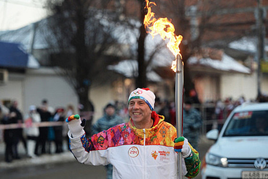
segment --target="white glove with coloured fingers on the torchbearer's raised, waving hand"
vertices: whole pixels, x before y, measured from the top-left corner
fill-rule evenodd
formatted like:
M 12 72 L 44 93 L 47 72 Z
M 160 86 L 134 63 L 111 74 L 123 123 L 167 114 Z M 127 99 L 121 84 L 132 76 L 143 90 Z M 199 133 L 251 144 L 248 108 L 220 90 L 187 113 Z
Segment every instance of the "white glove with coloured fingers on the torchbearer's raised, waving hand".
M 69 130 L 73 138 L 82 136 L 85 131 L 83 130 L 86 125 L 86 120 L 83 119 L 81 122 L 79 115 L 71 115 L 66 119 Z

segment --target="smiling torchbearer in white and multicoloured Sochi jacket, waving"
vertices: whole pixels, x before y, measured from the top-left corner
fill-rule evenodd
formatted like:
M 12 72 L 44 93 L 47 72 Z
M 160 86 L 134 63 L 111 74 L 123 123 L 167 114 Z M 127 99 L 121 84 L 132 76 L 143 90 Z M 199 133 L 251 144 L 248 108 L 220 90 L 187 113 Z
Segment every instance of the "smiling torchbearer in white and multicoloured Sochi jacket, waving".
M 184 158 L 183 175 L 196 176 L 201 164 L 198 152 L 186 138 L 176 139 L 176 128 L 153 111 L 154 93 L 149 88 L 137 88 L 128 102 L 128 123 L 90 139 L 83 130 L 85 120 L 81 122 L 79 115 L 66 119 L 70 150 L 76 159 L 89 165 L 112 164 L 113 178 L 178 178 L 178 151 Z

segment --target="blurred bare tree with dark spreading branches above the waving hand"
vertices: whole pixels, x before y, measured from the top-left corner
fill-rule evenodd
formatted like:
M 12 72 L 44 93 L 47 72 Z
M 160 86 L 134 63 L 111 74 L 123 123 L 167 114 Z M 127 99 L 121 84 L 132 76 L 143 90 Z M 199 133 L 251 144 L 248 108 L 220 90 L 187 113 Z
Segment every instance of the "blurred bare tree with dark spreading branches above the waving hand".
M 47 1 L 51 13 L 50 39 L 52 64 L 74 87 L 84 110 L 93 110 L 89 94 L 92 83 L 106 72 L 106 66 L 117 61 L 114 22 L 116 14 L 104 10 L 109 1 Z M 95 7 L 95 8 L 92 8 Z M 96 8 L 99 7 L 99 8 Z M 103 70 L 102 70 L 103 69 Z M 99 78 L 103 79 L 103 78 Z

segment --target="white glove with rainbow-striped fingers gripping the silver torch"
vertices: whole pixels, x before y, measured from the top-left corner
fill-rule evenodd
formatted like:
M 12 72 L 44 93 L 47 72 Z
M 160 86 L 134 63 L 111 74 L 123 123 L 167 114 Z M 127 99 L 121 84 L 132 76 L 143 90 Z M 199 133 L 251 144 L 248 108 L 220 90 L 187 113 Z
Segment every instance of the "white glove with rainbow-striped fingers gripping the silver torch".
M 183 158 L 187 158 L 191 154 L 191 148 L 188 144 L 188 140 L 184 137 L 179 137 L 175 139 L 174 150 L 176 152 L 181 152 Z

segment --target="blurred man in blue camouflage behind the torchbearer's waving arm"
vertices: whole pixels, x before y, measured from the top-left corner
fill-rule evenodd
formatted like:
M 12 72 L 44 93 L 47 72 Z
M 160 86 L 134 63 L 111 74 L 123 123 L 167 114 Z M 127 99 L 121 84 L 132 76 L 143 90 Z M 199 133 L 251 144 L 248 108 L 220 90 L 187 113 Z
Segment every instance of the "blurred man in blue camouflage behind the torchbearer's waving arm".
M 115 125 L 124 123 L 123 119 L 115 114 L 115 106 L 112 104 L 107 104 L 104 109 L 104 116 L 92 126 L 92 134 L 99 133 L 103 130 L 107 130 Z M 105 166 L 107 171 L 107 179 L 112 178 L 113 166 L 108 164 Z

